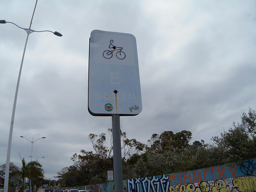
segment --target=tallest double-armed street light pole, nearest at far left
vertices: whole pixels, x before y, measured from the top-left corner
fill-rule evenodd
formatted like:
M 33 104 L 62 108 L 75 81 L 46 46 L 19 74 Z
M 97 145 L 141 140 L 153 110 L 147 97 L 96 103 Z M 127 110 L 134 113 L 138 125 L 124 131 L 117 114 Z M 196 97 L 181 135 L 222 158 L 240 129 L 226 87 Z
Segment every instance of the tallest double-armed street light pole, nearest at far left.
M 36 0 L 36 4 L 37 4 L 37 0 Z M 8 139 L 8 147 L 7 147 L 7 156 L 6 156 L 4 192 L 8 192 L 9 171 L 10 171 L 10 156 L 11 156 L 11 145 L 12 145 L 12 131 L 13 131 L 13 124 L 14 124 L 14 116 L 15 116 L 15 109 L 16 109 L 16 103 L 17 103 L 18 89 L 19 89 L 19 84 L 20 84 L 20 74 L 21 74 L 23 60 L 24 60 L 24 55 L 25 55 L 26 46 L 27 46 L 27 42 L 28 42 L 28 36 L 32 32 L 52 32 L 52 31 L 48 31 L 48 30 L 35 31 L 35 30 L 31 29 L 33 16 L 34 16 L 34 13 L 35 13 L 35 10 L 36 10 L 36 4 L 35 4 L 35 7 L 34 7 L 34 11 L 33 11 L 33 14 L 32 14 L 32 18 L 31 18 L 31 21 L 30 21 L 29 28 L 22 28 L 22 27 L 16 25 L 15 23 L 13 23 L 13 22 L 6 22 L 6 20 L 0 20 L 0 24 L 11 23 L 11 24 L 16 25 L 18 28 L 24 29 L 26 31 L 26 33 L 27 33 L 27 38 L 26 38 L 26 42 L 25 42 L 25 46 L 24 46 L 24 51 L 23 51 L 23 55 L 22 55 L 22 60 L 21 60 L 21 64 L 20 64 L 20 72 L 19 72 L 19 75 L 18 75 L 16 92 L 15 92 L 15 96 L 14 96 L 14 103 L 13 103 L 13 108 L 12 108 L 12 118 L 11 118 L 11 125 L 10 125 L 9 139 Z M 56 32 L 56 31 L 52 32 L 52 33 L 55 34 L 56 36 L 62 36 L 62 34 L 60 34 L 59 32 Z

